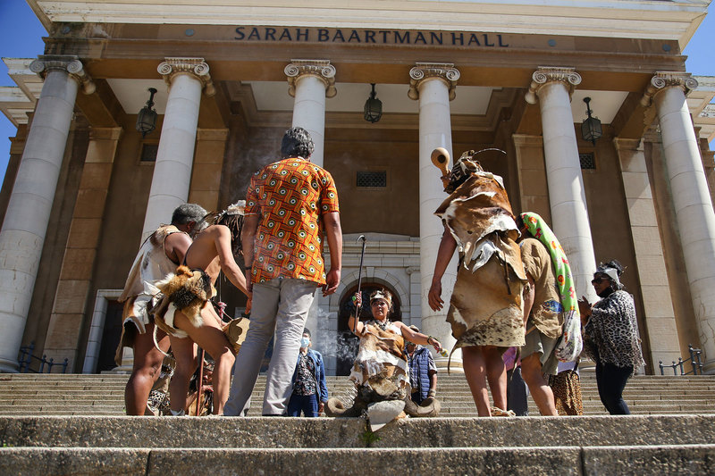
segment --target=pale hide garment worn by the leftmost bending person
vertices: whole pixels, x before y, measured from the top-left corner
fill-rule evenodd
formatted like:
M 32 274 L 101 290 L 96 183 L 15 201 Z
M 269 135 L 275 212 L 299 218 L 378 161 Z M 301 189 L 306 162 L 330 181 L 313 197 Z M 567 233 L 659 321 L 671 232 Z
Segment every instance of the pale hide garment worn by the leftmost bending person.
M 163 280 L 167 274 L 176 269 L 176 263 L 173 263 L 164 251 L 164 240 L 173 233 L 182 233 L 182 231 L 173 225 L 159 227 L 144 240 L 131 265 L 122 295 L 117 299 L 120 303 L 124 303 L 122 337 L 114 356 L 117 365 L 122 364 L 124 347 L 134 346 L 134 335 L 137 332 L 144 334 L 147 331 L 146 326 L 150 322 L 147 306 L 156 305 L 158 301 L 156 298 L 158 289 L 154 283 Z

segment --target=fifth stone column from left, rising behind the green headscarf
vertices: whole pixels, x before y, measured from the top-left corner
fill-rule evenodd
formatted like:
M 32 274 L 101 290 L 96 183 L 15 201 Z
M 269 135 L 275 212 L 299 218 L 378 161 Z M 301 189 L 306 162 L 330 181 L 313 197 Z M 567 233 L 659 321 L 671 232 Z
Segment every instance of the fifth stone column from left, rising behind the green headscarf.
M 591 286 L 596 263 L 571 114 L 571 93 L 581 76 L 573 68 L 539 67 L 532 79 L 526 101 L 536 104 L 538 99 L 542 113 L 551 226 L 568 256 L 577 296 L 593 302 L 598 299 Z

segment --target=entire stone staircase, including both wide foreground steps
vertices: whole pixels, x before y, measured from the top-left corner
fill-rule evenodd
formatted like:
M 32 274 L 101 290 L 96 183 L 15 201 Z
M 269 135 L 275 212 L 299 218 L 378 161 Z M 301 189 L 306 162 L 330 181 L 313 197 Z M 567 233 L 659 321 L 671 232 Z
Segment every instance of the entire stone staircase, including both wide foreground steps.
M 609 416 L 584 372 L 588 416 L 490 419 L 474 418 L 463 376 L 441 375 L 440 418 L 376 433 L 363 418 L 115 416 L 126 379 L 0 375 L 0 474 L 715 474 L 709 376 L 635 377 L 635 414 Z

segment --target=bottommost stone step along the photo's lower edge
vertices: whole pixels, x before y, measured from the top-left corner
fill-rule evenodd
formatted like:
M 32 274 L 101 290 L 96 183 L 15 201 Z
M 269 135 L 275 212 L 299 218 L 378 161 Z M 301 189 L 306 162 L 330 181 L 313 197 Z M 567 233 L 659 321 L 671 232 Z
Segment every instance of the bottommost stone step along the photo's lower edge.
M 712 474 L 715 445 L 398 449 L 0 448 L 17 474 Z M 525 463 L 528 462 L 528 463 Z M 23 471 L 24 470 L 24 471 Z

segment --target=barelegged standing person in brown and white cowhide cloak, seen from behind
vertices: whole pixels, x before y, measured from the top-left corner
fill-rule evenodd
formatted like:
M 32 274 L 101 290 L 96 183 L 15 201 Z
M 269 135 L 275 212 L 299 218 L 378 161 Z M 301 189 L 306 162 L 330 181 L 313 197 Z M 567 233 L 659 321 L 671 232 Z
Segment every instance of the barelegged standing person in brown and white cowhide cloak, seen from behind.
M 507 380 L 501 354 L 524 345 L 521 263 L 517 224 L 501 177 L 484 171 L 474 151 L 459 158 L 435 214 L 444 233 L 434 266 L 429 305 L 442 309 L 442 276 L 457 249 L 459 268 L 447 321 L 462 349 L 467 383 L 480 416 L 506 414 Z M 489 382 L 494 408 L 489 405 Z

